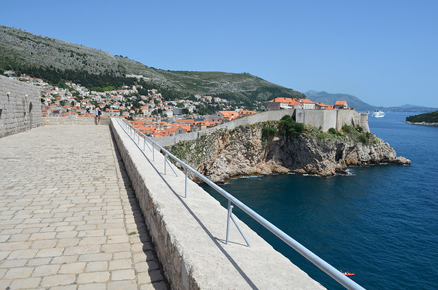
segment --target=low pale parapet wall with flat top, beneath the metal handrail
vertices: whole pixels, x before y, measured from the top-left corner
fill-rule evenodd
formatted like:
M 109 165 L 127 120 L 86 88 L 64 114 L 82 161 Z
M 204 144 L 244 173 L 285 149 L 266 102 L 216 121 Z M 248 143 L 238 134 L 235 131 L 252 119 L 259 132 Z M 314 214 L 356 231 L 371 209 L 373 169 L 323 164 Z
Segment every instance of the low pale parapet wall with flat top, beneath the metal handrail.
M 190 179 L 184 198 L 183 172 L 110 126 L 172 289 L 324 289 L 237 217 L 250 246 L 232 223 L 225 245 L 227 209 Z

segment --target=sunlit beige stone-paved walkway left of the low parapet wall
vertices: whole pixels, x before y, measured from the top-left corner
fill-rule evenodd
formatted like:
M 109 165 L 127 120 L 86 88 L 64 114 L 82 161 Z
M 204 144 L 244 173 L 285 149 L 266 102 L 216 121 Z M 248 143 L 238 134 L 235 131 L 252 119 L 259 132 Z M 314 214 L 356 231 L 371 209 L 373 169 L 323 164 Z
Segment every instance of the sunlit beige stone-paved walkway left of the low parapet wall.
M 0 289 L 169 289 L 107 126 L 0 138 Z

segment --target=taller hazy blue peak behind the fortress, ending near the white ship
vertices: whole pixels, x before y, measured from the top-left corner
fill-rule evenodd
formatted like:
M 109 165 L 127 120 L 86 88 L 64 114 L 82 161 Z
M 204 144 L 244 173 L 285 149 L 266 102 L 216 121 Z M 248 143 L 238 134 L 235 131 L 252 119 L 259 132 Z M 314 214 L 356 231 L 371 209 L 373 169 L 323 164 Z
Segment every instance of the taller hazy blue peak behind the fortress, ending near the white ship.
M 316 103 L 324 103 L 327 105 L 333 105 L 336 101 L 347 101 L 348 107 L 355 108 L 356 111 L 374 111 L 378 107 L 367 104 L 357 96 L 352 96 L 351 94 L 330 94 L 328 92 L 317 92 L 315 90 L 310 90 L 305 92 L 305 95 L 309 100 Z

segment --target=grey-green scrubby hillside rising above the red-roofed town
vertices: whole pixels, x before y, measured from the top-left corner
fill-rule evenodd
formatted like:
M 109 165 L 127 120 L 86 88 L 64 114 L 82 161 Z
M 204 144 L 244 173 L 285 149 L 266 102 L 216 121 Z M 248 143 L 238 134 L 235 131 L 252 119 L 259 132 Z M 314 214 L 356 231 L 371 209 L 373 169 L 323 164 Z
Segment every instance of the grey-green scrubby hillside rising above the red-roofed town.
M 276 96 L 305 98 L 248 73 L 160 70 L 121 55 L 0 26 L 0 70 L 14 70 L 51 83 L 74 81 L 88 88 L 141 84 L 165 98 L 209 94 L 250 103 Z

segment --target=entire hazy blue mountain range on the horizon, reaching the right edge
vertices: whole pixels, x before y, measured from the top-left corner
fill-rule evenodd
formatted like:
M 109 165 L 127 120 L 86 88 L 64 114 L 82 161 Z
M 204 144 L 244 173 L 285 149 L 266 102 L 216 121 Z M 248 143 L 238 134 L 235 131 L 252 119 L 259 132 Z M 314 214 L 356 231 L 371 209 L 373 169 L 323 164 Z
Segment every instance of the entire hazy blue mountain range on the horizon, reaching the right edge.
M 383 111 L 411 111 L 411 112 L 427 112 L 436 111 L 437 108 L 422 107 L 417 105 L 402 105 L 400 107 L 377 107 L 361 101 L 357 96 L 351 94 L 330 94 L 328 92 L 317 92 L 315 90 L 309 90 L 305 92 L 305 95 L 309 100 L 317 103 L 324 103 L 327 105 L 333 105 L 336 101 L 347 101 L 348 107 L 353 107 L 356 111 L 374 111 L 381 109 Z

